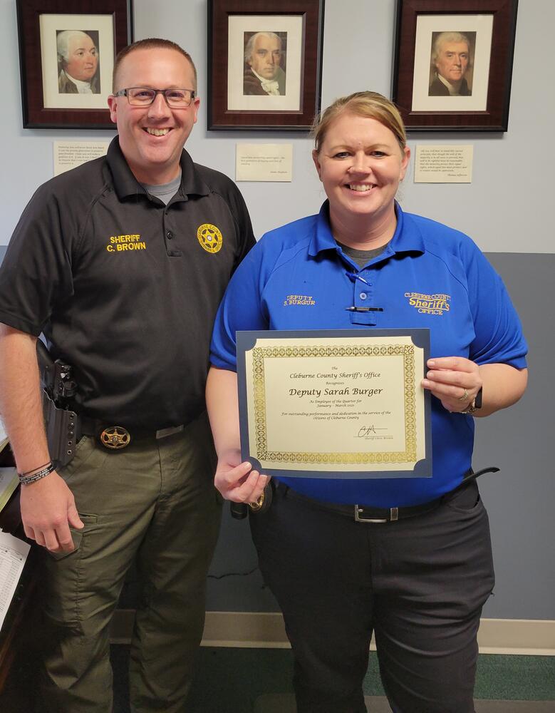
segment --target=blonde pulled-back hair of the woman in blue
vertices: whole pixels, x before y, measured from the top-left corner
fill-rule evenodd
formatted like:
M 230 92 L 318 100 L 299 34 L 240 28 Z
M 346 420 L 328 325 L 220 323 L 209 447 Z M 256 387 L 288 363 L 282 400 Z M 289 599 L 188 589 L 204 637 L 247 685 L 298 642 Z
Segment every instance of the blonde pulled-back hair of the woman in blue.
M 378 92 L 358 91 L 336 99 L 333 104 L 314 118 L 311 135 L 314 137 L 316 153 L 320 153 L 330 124 L 343 113 L 352 113 L 379 121 L 380 124 L 393 132 L 401 151 L 405 150 L 407 134 L 403 119 L 395 104 Z

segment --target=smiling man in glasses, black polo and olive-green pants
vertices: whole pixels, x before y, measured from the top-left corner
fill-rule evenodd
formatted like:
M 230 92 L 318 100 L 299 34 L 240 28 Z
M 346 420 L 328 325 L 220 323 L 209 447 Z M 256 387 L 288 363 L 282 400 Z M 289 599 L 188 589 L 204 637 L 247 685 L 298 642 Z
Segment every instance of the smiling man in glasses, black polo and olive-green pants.
M 105 158 L 38 188 L 0 270 L 0 412 L 28 483 L 25 531 L 44 548 L 52 632 L 41 711 L 111 712 L 108 625 L 135 555 L 145 585 L 132 710 L 182 712 L 190 688 L 221 504 L 204 411 L 209 339 L 254 243 L 237 186 L 182 149 L 196 87 L 175 43 L 120 52 L 108 99 L 118 137 Z M 43 465 L 41 332 L 73 366 L 85 434 L 58 472 Z

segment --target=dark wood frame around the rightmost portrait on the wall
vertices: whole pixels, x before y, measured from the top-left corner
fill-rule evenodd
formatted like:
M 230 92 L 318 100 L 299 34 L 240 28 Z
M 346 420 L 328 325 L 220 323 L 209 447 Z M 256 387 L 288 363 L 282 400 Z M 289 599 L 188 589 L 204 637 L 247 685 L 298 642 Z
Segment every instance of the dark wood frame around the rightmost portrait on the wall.
M 392 98 L 408 130 L 507 131 L 518 0 L 398 0 Z M 419 16 L 492 15 L 487 101 L 482 110 L 413 111 Z M 449 29 L 449 28 L 446 28 Z

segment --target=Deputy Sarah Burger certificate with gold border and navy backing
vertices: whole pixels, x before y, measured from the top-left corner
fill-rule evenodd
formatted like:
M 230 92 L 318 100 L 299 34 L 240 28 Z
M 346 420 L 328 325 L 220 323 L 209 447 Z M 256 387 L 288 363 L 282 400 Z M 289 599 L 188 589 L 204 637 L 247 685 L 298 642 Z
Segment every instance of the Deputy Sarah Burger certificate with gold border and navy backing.
M 242 458 L 261 473 L 430 478 L 428 329 L 237 332 Z

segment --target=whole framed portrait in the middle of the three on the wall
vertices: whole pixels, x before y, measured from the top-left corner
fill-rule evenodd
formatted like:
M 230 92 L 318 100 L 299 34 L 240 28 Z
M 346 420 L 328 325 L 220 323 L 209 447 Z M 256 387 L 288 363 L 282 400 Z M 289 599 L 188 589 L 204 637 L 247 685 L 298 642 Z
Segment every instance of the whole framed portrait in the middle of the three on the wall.
M 209 0 L 208 26 L 208 128 L 308 130 L 323 0 Z

